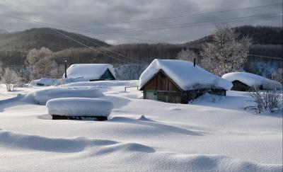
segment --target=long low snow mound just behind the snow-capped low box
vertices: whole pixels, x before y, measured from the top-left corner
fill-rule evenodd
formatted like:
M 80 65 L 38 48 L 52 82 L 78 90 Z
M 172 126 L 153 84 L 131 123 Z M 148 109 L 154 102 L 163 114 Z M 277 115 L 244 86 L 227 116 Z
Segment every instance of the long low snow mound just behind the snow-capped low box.
M 104 96 L 97 88 L 47 88 L 39 91 L 28 93 L 24 101 L 35 103 L 37 105 L 45 105 L 47 101 L 54 98 L 98 98 Z

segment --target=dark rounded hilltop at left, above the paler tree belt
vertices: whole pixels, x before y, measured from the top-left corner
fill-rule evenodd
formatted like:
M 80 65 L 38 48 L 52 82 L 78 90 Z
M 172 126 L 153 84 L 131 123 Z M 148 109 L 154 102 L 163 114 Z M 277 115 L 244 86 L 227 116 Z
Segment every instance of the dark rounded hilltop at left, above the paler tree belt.
M 51 28 L 32 28 L 15 33 L 0 33 L 0 51 L 28 51 L 33 48 L 48 47 L 50 50 L 57 52 L 71 47 L 83 47 L 77 42 L 68 39 L 66 36 L 78 40 L 84 45 L 97 47 L 97 45 L 107 45 L 105 42 L 95 38 L 89 38 L 84 35 L 76 33 L 69 33 L 64 30 L 57 30 L 59 33 Z M 64 35 L 62 35 L 62 34 Z

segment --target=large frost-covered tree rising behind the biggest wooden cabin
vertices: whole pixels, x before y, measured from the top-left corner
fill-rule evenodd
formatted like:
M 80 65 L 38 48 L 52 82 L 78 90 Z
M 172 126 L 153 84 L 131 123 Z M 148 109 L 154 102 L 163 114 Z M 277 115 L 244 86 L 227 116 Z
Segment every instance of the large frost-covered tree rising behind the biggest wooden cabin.
M 219 76 L 242 69 L 252 44 L 251 39 L 246 36 L 239 38 L 226 24 L 216 25 L 212 36 L 212 42 L 202 45 L 202 66 Z

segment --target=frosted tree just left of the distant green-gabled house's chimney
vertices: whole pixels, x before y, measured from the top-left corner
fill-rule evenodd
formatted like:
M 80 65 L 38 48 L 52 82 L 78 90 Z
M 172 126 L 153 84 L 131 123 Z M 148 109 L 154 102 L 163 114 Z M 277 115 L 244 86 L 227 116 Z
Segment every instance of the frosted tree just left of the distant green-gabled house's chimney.
M 33 78 L 56 76 L 57 64 L 51 57 L 52 51 L 45 47 L 28 52 L 27 63 L 33 71 Z

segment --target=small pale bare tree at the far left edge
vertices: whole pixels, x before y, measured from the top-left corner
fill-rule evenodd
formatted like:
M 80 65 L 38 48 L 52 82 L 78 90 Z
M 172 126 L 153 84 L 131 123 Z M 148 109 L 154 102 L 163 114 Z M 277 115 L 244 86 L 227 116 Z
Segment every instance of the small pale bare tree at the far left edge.
M 1 83 L 6 85 L 7 91 L 14 91 L 21 83 L 21 77 L 18 76 L 16 71 L 6 68 L 1 74 Z

